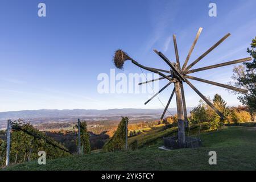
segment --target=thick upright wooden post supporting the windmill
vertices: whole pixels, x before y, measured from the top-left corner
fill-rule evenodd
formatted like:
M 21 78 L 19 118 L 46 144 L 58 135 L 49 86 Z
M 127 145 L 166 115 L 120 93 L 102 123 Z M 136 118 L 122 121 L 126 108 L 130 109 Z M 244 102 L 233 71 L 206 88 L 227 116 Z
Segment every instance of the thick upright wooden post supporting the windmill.
M 181 92 L 180 92 L 180 82 L 178 81 L 175 82 L 175 93 L 176 93 L 176 102 L 177 102 L 178 143 L 181 148 L 184 148 L 186 146 L 184 115 L 183 115 Z

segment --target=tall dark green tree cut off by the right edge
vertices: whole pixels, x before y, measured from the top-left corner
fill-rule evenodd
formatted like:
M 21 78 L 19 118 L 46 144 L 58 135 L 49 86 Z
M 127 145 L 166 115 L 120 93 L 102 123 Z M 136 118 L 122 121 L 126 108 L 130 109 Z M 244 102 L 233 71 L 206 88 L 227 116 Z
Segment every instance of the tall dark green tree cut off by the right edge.
M 242 102 L 243 105 L 248 106 L 250 113 L 255 115 L 256 113 L 256 37 L 251 43 L 251 48 L 247 48 L 247 52 L 253 57 L 253 62 L 243 63 L 238 67 L 233 69 L 233 80 L 234 83 L 229 82 L 229 85 L 236 86 L 238 88 L 244 88 L 248 90 L 246 94 L 240 95 L 238 100 Z M 233 92 L 235 94 L 240 94 L 238 92 Z

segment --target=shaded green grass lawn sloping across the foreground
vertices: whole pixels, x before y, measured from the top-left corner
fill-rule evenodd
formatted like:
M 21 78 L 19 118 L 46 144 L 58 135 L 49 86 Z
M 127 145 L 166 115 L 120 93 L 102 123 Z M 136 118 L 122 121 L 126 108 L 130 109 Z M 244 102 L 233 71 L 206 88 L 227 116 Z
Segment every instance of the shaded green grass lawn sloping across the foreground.
M 202 133 L 203 147 L 159 150 L 162 140 L 137 151 L 95 153 L 16 164 L 9 170 L 256 170 L 256 128 L 225 127 Z M 210 166 L 208 152 L 217 152 L 217 165 Z

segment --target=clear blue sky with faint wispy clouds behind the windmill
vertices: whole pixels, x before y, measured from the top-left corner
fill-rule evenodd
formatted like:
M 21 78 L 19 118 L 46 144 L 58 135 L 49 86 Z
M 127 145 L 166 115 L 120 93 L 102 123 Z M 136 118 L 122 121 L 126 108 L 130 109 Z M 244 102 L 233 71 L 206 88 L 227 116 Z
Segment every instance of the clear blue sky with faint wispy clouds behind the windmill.
M 38 3 L 47 16 L 39 18 Z M 210 2 L 217 17 L 208 15 Z M 172 34 L 176 34 L 180 61 L 184 62 L 199 27 L 203 27 L 189 63 L 228 32 L 232 34 L 193 68 L 248 57 L 246 48 L 256 36 L 255 0 L 247 1 L 59 1 L 2 0 L 0 6 L 0 111 L 34 109 L 163 108 L 156 99 L 144 106 L 148 94 L 99 94 L 100 73 L 114 68 L 115 49 L 122 48 L 139 63 L 167 65 L 152 49 L 175 60 Z M 226 84 L 233 66 L 193 73 Z M 117 73 L 141 73 L 131 63 Z M 147 72 L 145 72 L 147 73 Z M 160 87 L 167 81 L 159 82 Z M 205 96 L 221 94 L 228 105 L 237 96 L 191 81 Z M 160 94 L 166 104 L 173 85 Z M 188 106 L 200 97 L 185 85 Z M 175 107 L 175 100 L 170 107 Z

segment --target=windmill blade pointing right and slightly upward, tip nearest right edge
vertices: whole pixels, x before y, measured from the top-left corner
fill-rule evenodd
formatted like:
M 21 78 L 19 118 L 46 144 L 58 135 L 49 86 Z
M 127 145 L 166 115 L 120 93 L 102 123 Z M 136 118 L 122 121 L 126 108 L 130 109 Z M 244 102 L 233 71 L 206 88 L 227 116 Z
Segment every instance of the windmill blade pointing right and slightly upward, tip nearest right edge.
M 195 72 L 200 72 L 200 71 L 204 71 L 204 70 L 207 70 L 207 69 L 213 69 L 213 68 L 218 68 L 218 67 L 224 67 L 224 66 L 227 66 L 227 65 L 231 65 L 231 64 L 237 64 L 237 63 L 243 63 L 243 62 L 246 62 L 246 61 L 251 61 L 251 57 L 246 57 L 246 58 L 243 58 L 243 59 L 238 59 L 238 60 L 234 60 L 234 61 L 228 61 L 226 63 L 220 63 L 220 64 L 214 64 L 214 65 L 210 65 L 208 67 L 203 67 L 203 68 L 197 68 L 197 69 L 191 69 L 187 72 L 184 72 L 185 74 L 189 74 L 189 73 L 195 73 Z

